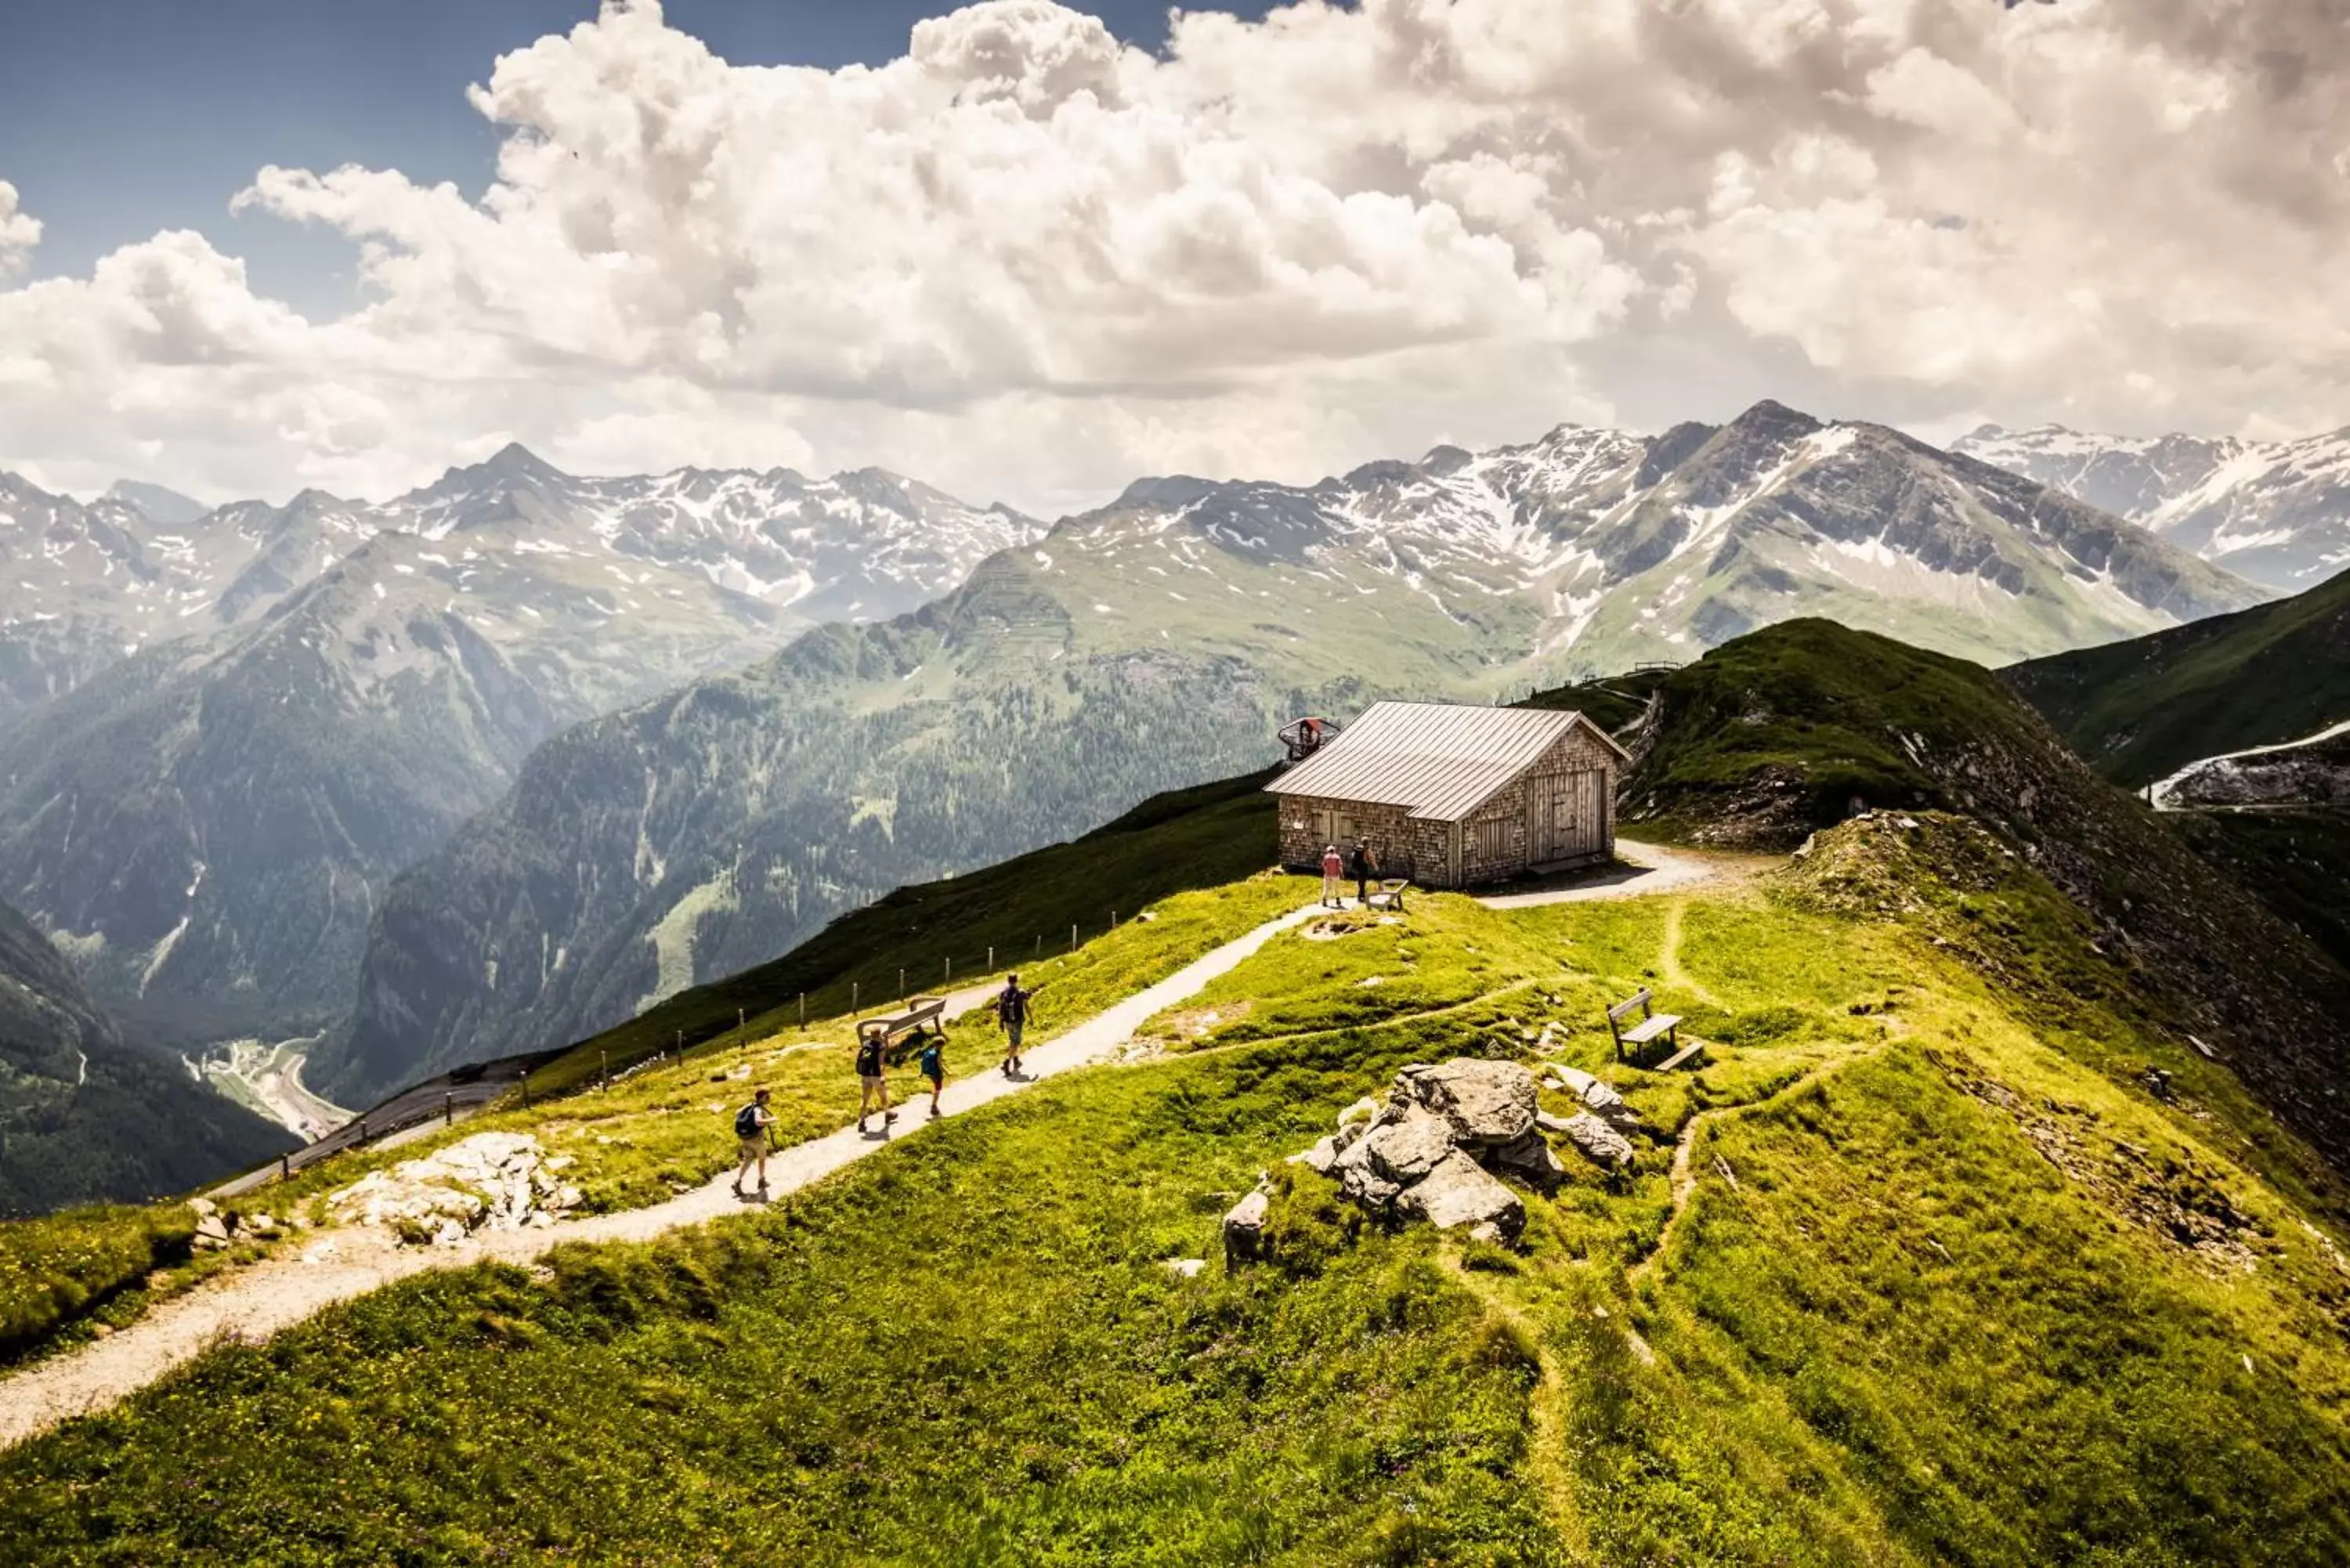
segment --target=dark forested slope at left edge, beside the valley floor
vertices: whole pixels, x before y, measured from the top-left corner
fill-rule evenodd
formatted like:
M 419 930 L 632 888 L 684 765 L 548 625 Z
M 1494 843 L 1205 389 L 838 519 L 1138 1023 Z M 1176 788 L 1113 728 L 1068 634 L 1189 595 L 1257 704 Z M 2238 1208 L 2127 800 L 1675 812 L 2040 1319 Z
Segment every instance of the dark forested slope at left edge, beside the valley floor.
M 289 1147 L 284 1128 L 125 1044 L 56 947 L 0 905 L 0 1215 L 146 1201 Z

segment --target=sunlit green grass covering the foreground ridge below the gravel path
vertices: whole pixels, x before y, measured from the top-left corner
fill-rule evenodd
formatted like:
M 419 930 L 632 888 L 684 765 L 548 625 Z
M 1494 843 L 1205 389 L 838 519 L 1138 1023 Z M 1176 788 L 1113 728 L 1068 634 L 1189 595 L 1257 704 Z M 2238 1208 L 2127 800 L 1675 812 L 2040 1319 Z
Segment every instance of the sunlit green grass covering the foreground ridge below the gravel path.
M 1295 891 L 1170 900 L 1088 945 L 1060 994 L 1140 987 Z M 1170 1056 L 928 1128 L 785 1211 L 411 1281 L 214 1352 L 0 1458 L 0 1542 L 287 1563 L 2341 1561 L 2338 1185 L 2089 936 L 1948 818 L 1840 827 L 1753 889 L 1426 898 L 1403 926 L 1285 933 Z M 1401 987 L 1405 964 L 1417 990 L 1361 985 Z M 1701 1072 L 1612 1060 L 1598 1009 L 1643 983 L 1718 1041 Z M 1281 1164 L 1398 1065 L 1523 1058 L 1544 1025 L 1652 1131 L 1629 1178 L 1570 1152 L 1556 1194 L 1525 1194 L 1520 1248 L 1365 1225 Z M 2174 1103 L 2136 1081 L 2148 1060 Z M 604 1093 L 642 1095 L 627 1114 L 651 1124 L 656 1079 Z M 1694 1190 L 1671 1218 L 1676 1135 Z M 1267 1168 L 1274 1260 L 1227 1274 L 1217 1218 Z M 1184 1281 L 1166 1258 L 1210 1265 Z

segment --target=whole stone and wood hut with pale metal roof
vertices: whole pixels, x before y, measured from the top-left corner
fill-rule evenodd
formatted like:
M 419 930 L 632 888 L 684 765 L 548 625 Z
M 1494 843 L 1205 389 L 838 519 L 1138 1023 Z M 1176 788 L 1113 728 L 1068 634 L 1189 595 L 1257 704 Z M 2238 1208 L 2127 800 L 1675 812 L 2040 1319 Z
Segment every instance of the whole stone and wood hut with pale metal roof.
M 1375 703 L 1267 785 L 1281 860 L 1300 870 L 1368 839 L 1389 877 L 1473 886 L 1614 856 L 1629 752 L 1579 712 Z

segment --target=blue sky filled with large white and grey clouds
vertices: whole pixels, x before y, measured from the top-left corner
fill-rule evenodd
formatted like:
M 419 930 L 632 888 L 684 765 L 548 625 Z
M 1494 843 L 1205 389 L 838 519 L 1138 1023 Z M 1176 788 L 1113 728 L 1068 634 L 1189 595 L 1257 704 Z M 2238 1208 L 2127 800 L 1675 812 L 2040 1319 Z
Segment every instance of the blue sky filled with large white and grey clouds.
M 0 0 L 0 468 L 2350 423 L 2343 0 Z

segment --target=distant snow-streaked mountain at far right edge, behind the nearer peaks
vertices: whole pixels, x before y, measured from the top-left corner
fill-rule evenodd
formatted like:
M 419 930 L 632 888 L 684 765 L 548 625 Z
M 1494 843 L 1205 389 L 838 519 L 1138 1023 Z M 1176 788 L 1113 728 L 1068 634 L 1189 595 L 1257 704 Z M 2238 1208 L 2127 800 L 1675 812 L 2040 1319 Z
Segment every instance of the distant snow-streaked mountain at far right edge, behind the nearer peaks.
M 2296 442 L 1983 425 L 1953 451 L 2103 508 L 2287 592 L 2350 567 L 2350 430 Z

